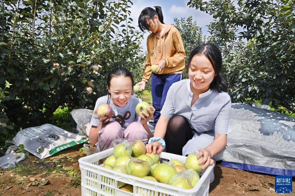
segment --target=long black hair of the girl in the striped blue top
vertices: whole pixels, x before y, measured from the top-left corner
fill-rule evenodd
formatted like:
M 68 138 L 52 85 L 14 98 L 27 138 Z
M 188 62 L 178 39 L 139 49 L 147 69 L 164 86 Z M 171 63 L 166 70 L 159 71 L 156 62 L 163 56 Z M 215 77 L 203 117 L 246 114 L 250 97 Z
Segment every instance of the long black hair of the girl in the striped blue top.
M 196 46 L 189 56 L 189 66 L 191 64 L 191 59 L 195 55 L 205 55 L 214 68 L 216 76 L 214 76 L 210 84 L 210 89 L 217 90 L 219 93 L 221 91 L 227 92 L 227 81 L 222 73 L 222 55 L 219 48 L 212 43 L 203 43 Z M 189 71 L 189 67 L 187 70 Z

